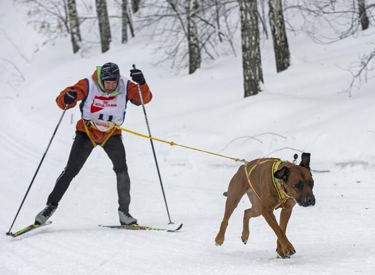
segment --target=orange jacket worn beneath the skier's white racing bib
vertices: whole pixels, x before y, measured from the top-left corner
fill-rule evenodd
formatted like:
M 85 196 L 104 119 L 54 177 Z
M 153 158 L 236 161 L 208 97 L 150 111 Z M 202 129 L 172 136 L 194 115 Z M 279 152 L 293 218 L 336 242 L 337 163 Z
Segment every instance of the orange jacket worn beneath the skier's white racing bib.
M 96 70 L 93 73 L 92 77 L 96 82 L 98 82 Z M 87 96 L 88 91 L 89 91 L 88 81 L 86 79 L 80 79 L 75 85 L 65 88 L 56 98 L 56 103 L 60 108 L 65 109 L 64 95 L 66 92 L 71 91 L 71 90 L 75 90 L 77 92 L 77 99 L 74 103 L 69 104 L 67 109 L 73 108 L 77 104 L 77 101 L 80 101 Z M 140 91 L 142 93 L 143 103 L 145 104 L 149 103 L 152 99 L 152 93 L 150 91 L 149 86 L 146 83 L 141 85 Z M 127 100 L 130 100 L 135 105 L 141 104 L 139 93 L 138 93 L 138 87 L 136 84 L 134 84 L 131 81 L 128 82 Z M 76 129 L 78 131 L 85 132 L 82 119 L 78 120 L 76 124 Z M 107 135 L 109 134 L 108 132 L 102 132 L 102 131 L 93 129 L 91 127 L 89 127 L 89 131 L 90 131 L 91 138 L 96 143 L 101 143 L 102 141 L 104 141 Z M 116 135 L 116 134 L 121 134 L 121 130 L 116 129 L 113 135 Z

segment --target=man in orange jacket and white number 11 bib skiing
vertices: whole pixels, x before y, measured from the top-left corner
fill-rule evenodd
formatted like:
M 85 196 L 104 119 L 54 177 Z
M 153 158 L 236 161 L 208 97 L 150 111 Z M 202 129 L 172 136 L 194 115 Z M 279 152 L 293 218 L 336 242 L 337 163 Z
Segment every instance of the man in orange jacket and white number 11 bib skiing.
M 150 102 L 152 94 L 143 73 L 132 69 L 130 76 L 138 83 L 143 102 Z M 80 100 L 82 118 L 76 124 L 76 136 L 67 166 L 57 178 L 48 196 L 47 206 L 35 217 L 35 223 L 44 224 L 51 217 L 93 148 L 100 145 L 112 161 L 113 171 L 117 176 L 120 223 L 136 224 L 137 220 L 129 213 L 130 179 L 121 130 L 116 125 L 123 124 L 128 101 L 135 105 L 141 104 L 138 86 L 120 75 L 116 64 L 106 63 L 97 67 L 92 76 L 79 80 L 56 98 L 57 105 L 62 109 L 72 108 Z

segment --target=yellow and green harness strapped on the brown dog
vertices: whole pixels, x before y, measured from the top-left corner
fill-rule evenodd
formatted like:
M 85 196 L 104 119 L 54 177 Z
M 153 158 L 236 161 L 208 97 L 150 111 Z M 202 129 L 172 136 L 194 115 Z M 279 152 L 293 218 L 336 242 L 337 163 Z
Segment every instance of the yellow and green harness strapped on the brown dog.
M 256 164 L 253 167 L 251 167 L 249 172 L 248 172 L 248 168 L 247 168 L 248 163 L 245 163 L 244 166 L 245 166 L 245 174 L 246 174 L 247 182 L 249 183 L 250 188 L 253 191 L 253 193 L 255 194 L 255 196 L 258 197 L 258 199 L 262 201 L 261 196 L 259 196 L 259 194 L 255 191 L 255 189 L 254 189 L 254 187 L 251 183 L 250 174 L 254 170 L 255 167 L 257 167 L 258 165 L 261 165 L 263 163 L 266 163 L 268 161 L 273 161 L 272 170 L 271 170 L 272 181 L 273 181 L 273 185 L 276 189 L 277 195 L 279 197 L 279 202 L 275 206 L 275 209 L 282 208 L 284 206 L 284 204 L 286 203 L 286 200 L 289 199 L 289 198 L 292 198 L 292 197 L 289 194 L 287 194 L 287 191 L 285 190 L 285 187 L 284 187 L 283 180 L 275 178 L 274 174 L 278 170 L 281 163 L 290 163 L 289 161 L 280 160 L 279 158 L 269 158 L 269 159 L 265 159 L 265 160 L 261 161 L 261 158 L 259 158 L 258 161 L 256 162 Z

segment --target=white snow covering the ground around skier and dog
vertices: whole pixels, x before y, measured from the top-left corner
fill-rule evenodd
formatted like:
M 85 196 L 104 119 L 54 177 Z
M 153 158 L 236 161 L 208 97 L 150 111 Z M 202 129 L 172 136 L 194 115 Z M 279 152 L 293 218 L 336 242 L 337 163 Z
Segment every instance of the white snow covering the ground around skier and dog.
M 0 63 L 2 274 L 373 273 L 375 82 L 369 79 L 352 97 L 339 93 L 350 79 L 341 68 L 371 49 L 371 36 L 318 45 L 290 34 L 292 66 L 278 74 L 272 41 L 266 41 L 265 91 L 244 99 L 240 57 L 221 57 L 193 75 L 176 75 L 152 65 L 155 53 L 142 37 L 113 45 L 104 54 L 98 46 L 84 57 L 72 55 L 68 38 L 34 52 L 43 38 L 25 24 L 24 11 L 9 1 L 0 10 L 0 57 L 12 60 L 25 77 L 20 80 L 11 65 Z M 5 29 L 11 18 L 17 23 Z M 175 222 L 168 225 L 150 142 L 128 133 L 123 136 L 132 182 L 130 212 L 142 225 L 174 229 L 183 223 L 180 232 L 99 228 L 118 224 L 118 216 L 116 177 L 104 151 L 96 148 L 52 225 L 14 239 L 6 236 L 62 115 L 56 95 L 109 61 L 125 75 L 132 64 L 145 73 L 154 95 L 146 109 L 155 137 L 247 160 L 270 153 L 292 160 L 301 150 L 311 153 L 314 171 L 329 170 L 313 172 L 316 205 L 293 210 L 286 233 L 297 251 L 291 259 L 276 259 L 276 236 L 262 217 L 250 220 L 249 241 L 241 242 L 247 197 L 230 218 L 223 245 L 215 246 L 224 212 L 222 193 L 239 163 L 155 142 Z M 142 108 L 128 106 L 123 127 L 147 134 Z M 12 231 L 33 223 L 43 209 L 65 167 L 79 117 L 77 107 L 66 112 Z M 257 140 L 248 138 L 255 135 Z

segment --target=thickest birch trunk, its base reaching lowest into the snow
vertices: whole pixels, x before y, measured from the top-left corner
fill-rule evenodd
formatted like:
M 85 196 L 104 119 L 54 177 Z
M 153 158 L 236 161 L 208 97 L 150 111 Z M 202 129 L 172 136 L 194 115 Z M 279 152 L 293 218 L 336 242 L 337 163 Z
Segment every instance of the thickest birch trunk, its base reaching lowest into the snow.
M 244 97 L 261 92 L 263 82 L 261 50 L 259 46 L 258 14 L 256 0 L 238 0 L 241 12 L 242 67 Z

